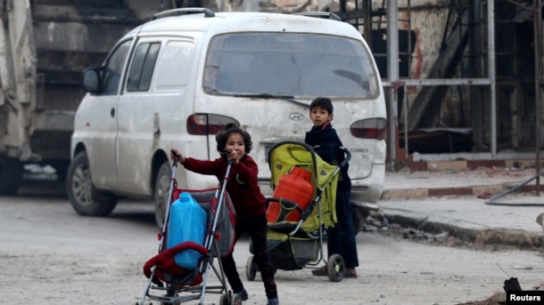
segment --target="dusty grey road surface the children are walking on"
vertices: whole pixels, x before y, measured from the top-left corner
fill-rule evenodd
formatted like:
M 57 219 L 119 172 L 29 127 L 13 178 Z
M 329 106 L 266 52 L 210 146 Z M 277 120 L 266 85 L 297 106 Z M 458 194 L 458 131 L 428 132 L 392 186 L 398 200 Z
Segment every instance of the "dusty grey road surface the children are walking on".
M 58 186 L 37 195 L 0 197 L 0 295 L 9 304 L 135 304 L 157 253 L 152 205 L 121 201 L 111 217 L 76 214 Z M 508 277 L 523 289 L 544 282 L 542 254 L 422 245 L 362 232 L 359 278 L 332 283 L 309 269 L 278 270 L 282 304 L 457 304 L 502 291 Z M 248 241 L 235 259 L 250 299 L 265 304 L 258 275 L 245 278 Z M 500 268 L 507 273 L 503 272 Z M 213 281 L 211 278 L 210 281 Z M 219 297 L 206 297 L 217 304 Z

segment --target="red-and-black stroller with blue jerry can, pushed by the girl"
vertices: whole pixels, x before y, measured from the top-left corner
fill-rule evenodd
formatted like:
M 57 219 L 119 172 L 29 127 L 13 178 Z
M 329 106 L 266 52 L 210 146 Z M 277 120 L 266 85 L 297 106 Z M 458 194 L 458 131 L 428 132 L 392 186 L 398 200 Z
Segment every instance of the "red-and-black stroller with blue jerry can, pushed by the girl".
M 238 294 L 227 291 L 227 280 L 221 260 L 217 260 L 218 267 L 213 265 L 214 258 L 232 253 L 235 245 L 235 209 L 226 191 L 227 179 L 218 189 L 177 189 L 176 168 L 177 161 L 174 161 L 169 187 L 171 201 L 167 207 L 165 221 L 159 235 L 159 253 L 144 264 L 144 275 L 149 280 L 141 302 L 136 302 L 136 305 L 144 305 L 145 299 L 160 301 L 161 304 L 179 304 L 200 299 L 199 304 L 203 304 L 206 293 L 221 294 L 219 305 L 242 304 Z M 228 177 L 230 168 L 231 164 L 227 167 L 226 177 Z M 184 193 L 194 198 L 194 201 L 205 212 L 203 216 L 205 221 L 202 221 L 202 223 L 206 222 L 202 225 L 202 233 L 205 231 L 205 234 L 202 234 L 202 244 L 185 241 L 178 245 L 169 245 L 167 248 L 169 229 L 173 229 L 173 226 L 169 228 L 169 224 L 174 223 L 170 220 L 172 217 L 170 214 L 174 210 L 174 202 L 178 197 L 186 197 Z M 179 215 L 185 216 L 185 220 L 190 221 L 184 213 L 179 213 Z M 193 228 L 186 231 L 189 232 L 188 234 L 192 234 Z M 173 233 L 171 238 L 174 238 Z M 180 253 L 182 255 L 196 254 L 198 260 L 195 261 L 196 267 L 189 269 L 180 267 L 176 261 L 176 255 Z M 218 277 L 220 285 L 208 285 L 210 269 Z M 152 294 L 150 290 L 158 290 L 159 293 Z

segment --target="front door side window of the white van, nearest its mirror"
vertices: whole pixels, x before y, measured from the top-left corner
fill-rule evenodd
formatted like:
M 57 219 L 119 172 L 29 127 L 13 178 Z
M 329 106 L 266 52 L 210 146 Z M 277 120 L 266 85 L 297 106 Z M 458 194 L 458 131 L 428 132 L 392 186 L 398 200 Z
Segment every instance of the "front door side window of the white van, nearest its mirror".
M 125 61 L 127 60 L 128 50 L 132 40 L 120 44 L 115 51 L 111 53 L 106 65 L 103 68 L 103 95 L 115 95 L 119 92 L 119 84 Z

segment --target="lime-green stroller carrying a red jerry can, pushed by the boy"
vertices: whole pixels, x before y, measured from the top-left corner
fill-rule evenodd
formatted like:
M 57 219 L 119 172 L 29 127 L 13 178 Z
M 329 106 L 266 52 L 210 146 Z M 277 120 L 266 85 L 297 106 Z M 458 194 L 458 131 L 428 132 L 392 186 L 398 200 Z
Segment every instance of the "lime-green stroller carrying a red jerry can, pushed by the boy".
M 267 247 L 275 271 L 316 267 L 324 261 L 330 280 L 342 281 L 345 270 L 342 256 L 334 254 L 327 260 L 323 254 L 324 232 L 336 223 L 335 196 L 340 169 L 351 157 L 347 148 L 342 149 L 345 154 L 342 164 L 329 165 L 305 143 L 283 141 L 270 148 L 268 164 L 274 193 L 267 198 Z M 282 183 L 290 176 L 295 177 L 291 189 L 282 189 Z M 248 280 L 255 279 L 257 270 L 254 257 L 250 256 L 246 263 Z

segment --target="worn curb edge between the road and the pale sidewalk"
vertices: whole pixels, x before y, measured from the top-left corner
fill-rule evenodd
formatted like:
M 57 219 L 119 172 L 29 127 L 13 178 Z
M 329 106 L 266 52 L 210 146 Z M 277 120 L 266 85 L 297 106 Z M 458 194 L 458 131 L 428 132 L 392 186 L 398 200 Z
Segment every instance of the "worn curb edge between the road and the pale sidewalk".
M 544 245 L 542 234 L 516 229 L 466 229 L 436 221 L 426 221 L 398 214 L 385 214 L 389 223 L 402 228 L 416 228 L 432 234 L 448 232 L 450 237 L 481 245 L 510 245 L 523 249 Z

